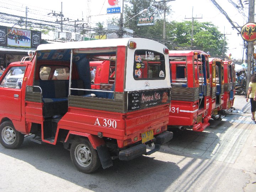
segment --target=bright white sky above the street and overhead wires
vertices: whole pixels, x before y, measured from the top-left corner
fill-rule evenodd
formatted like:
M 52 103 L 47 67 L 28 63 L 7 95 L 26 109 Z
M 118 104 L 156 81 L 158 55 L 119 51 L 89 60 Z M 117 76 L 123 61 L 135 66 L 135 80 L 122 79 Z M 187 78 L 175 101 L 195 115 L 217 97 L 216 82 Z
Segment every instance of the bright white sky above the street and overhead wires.
M 122 0 L 119 0 L 122 1 Z M 156 0 L 159 1 L 159 0 Z M 247 23 L 248 5 L 244 5 L 245 16 L 242 16 L 237 9 L 230 3 L 231 1 L 238 4 L 238 0 L 216 0 L 217 3 L 229 15 L 232 21 L 236 22 L 236 26 L 243 26 Z M 63 5 L 64 17 L 74 18 L 81 20 L 82 17 L 86 18 L 91 16 L 91 23 L 95 25 L 98 22 L 105 22 L 107 18 L 120 17 L 120 14 L 108 14 L 107 7 L 110 7 L 108 0 L 0 0 L 0 12 L 7 12 L 11 14 L 25 14 L 25 7 L 28 7 L 28 17 L 37 16 L 44 20 L 56 20 L 52 15 L 47 15 L 52 10 L 60 11 L 61 2 Z M 226 41 L 228 42 L 229 50 L 226 55 L 232 54 L 234 59 L 242 59 L 243 46 L 241 35 L 237 34 L 238 31 L 233 29 L 226 17 L 212 4 L 210 0 L 175 0 L 169 2 L 167 5 L 171 6 L 172 15 L 167 16 L 168 21 L 189 21 L 192 17 L 198 18 L 199 22 L 212 22 L 215 26 L 219 27 L 219 31 L 225 33 Z M 6 6 L 13 7 L 12 9 L 4 9 Z M 23 13 L 22 13 L 23 11 Z M 100 16 L 97 16 L 100 15 Z M 207 52 L 207 50 L 204 50 Z

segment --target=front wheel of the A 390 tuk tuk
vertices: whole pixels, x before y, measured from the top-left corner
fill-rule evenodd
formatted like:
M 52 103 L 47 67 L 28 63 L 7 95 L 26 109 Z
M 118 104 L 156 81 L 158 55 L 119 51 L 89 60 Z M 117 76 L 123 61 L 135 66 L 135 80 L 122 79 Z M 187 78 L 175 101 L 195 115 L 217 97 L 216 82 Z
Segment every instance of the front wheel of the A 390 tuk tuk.
M 21 146 L 24 135 L 18 132 L 11 121 L 0 125 L 0 143 L 7 149 L 16 149 Z

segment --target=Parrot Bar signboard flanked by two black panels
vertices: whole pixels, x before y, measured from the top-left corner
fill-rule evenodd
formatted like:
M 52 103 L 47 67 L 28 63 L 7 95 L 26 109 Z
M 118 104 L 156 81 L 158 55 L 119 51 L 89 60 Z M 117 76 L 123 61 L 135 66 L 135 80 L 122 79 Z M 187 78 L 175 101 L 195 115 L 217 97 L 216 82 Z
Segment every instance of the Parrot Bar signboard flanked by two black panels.
M 41 42 L 41 32 L 0 26 L 0 46 L 36 49 Z

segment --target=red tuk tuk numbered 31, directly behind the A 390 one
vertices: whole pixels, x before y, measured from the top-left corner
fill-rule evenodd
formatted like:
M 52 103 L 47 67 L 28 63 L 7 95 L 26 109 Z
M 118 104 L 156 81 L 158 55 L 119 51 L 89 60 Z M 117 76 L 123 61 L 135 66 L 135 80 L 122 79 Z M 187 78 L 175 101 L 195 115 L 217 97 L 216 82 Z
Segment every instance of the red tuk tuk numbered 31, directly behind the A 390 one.
M 209 55 L 200 50 L 169 52 L 171 106 L 169 126 L 203 131 L 209 126 L 210 72 Z

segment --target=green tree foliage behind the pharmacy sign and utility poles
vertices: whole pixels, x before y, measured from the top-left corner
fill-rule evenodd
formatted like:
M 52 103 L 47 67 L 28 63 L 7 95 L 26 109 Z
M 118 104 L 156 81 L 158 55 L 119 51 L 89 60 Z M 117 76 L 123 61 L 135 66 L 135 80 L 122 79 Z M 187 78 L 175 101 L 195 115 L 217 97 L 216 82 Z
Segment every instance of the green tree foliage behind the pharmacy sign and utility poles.
M 166 41 L 163 41 L 164 20 L 162 12 L 171 13 L 170 6 L 164 7 L 162 4 L 154 0 L 128 0 L 128 4 L 124 7 L 124 27 L 134 31 L 135 36 L 154 39 L 155 41 L 164 43 L 169 49 L 181 47 L 183 49 L 203 50 L 210 52 L 212 57 L 222 58 L 224 35 L 211 22 L 193 23 L 193 47 L 191 47 L 191 31 L 192 21 L 166 21 Z M 148 9 L 148 12 L 142 16 L 155 16 L 154 26 L 137 26 L 136 19 L 129 20 L 137 15 L 141 10 Z M 129 21 L 128 21 L 129 20 Z M 128 21 L 128 22 L 126 22 Z M 224 53 L 226 53 L 227 43 L 225 42 Z

